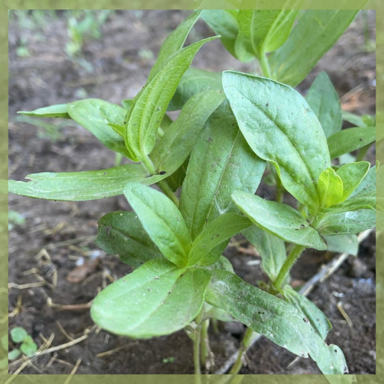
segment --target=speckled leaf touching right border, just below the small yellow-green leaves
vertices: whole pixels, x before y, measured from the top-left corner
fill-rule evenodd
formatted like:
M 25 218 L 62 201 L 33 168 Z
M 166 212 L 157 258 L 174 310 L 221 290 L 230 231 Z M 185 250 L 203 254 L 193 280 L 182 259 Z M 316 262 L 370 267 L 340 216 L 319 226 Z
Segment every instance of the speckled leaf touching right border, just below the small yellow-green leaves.
M 316 223 L 321 235 L 345 235 L 375 228 L 376 213 L 371 209 L 327 213 Z

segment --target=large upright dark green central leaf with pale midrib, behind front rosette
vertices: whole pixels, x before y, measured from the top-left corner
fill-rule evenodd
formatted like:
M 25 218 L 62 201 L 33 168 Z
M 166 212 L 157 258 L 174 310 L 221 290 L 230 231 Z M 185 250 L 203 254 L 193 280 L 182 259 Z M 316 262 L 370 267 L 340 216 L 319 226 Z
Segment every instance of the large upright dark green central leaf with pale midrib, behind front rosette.
M 191 239 L 225 212 L 237 213 L 233 191 L 255 192 L 265 169 L 247 146 L 228 102 L 209 117 L 191 153 L 179 209 Z

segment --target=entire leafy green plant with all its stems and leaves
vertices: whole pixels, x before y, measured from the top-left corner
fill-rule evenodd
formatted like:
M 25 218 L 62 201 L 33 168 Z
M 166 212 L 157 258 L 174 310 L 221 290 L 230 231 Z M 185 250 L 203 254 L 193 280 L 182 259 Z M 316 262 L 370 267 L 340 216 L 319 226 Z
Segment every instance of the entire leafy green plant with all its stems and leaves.
M 96 242 L 134 272 L 97 295 L 96 324 L 131 338 L 185 329 L 200 373 L 209 322 L 236 319 L 249 328 L 232 373 L 254 332 L 310 356 L 323 373 L 346 372 L 341 349 L 325 342 L 329 320 L 289 286 L 289 271 L 306 248 L 350 250 L 351 235 L 375 226 L 375 167 L 334 161 L 374 137 L 369 127 L 341 130 L 340 102 L 325 73 L 306 100 L 292 86 L 356 12 L 306 11 L 291 32 L 297 11 L 196 11 L 166 38 L 146 85 L 123 107 L 89 99 L 21 112 L 73 119 L 138 163 L 9 181 L 9 191 L 33 198 L 127 198 L 134 212 L 100 218 Z M 235 57 L 259 59 L 265 77 L 189 68 L 201 46 L 218 38 L 183 48 L 201 15 Z M 174 121 L 171 110 L 181 110 Z M 278 201 L 255 195 L 266 164 Z M 297 209 L 282 203 L 284 193 Z M 262 256 L 270 278 L 264 289 L 242 281 L 223 256 L 238 233 Z

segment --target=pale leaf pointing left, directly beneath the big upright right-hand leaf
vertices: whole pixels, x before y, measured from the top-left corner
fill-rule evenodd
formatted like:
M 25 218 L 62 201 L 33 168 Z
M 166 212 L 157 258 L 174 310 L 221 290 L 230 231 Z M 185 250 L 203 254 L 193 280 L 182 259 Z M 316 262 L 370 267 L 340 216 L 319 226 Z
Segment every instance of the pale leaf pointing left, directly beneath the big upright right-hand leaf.
M 326 250 L 326 244 L 319 233 L 294 208 L 241 191 L 233 193 L 232 198 L 252 223 L 272 235 L 294 244 Z

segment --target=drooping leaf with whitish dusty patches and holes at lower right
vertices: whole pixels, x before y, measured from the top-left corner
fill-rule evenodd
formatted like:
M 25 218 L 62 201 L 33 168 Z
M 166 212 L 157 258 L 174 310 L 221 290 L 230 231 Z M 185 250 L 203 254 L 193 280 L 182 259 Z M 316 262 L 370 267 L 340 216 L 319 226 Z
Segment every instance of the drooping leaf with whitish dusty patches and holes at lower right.
M 233 273 L 214 272 L 206 301 L 292 353 L 304 358 L 311 356 L 324 374 L 342 374 L 346 370 L 340 349 L 327 346 L 301 311 Z

